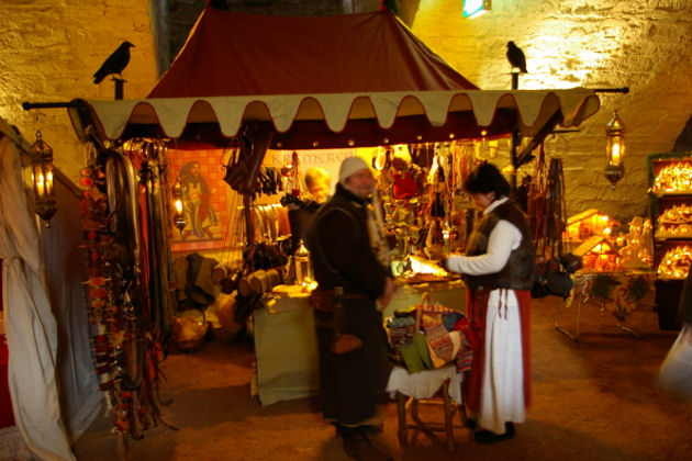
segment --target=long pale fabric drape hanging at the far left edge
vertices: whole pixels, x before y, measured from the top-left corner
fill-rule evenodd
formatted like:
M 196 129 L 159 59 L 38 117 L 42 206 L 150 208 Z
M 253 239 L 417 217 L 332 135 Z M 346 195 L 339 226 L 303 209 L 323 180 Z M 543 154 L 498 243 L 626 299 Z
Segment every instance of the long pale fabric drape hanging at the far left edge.
M 57 326 L 42 277 L 41 250 L 27 211 L 21 154 L 0 138 L 0 257 L 10 350 L 8 369 L 14 419 L 32 453 L 42 460 L 75 460 L 56 384 Z

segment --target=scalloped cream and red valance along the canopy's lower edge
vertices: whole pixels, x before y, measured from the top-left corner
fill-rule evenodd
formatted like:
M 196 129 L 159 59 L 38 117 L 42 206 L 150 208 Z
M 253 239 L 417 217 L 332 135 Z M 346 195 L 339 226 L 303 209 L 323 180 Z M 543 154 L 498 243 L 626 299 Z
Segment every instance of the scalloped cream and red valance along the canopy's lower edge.
M 194 126 L 234 137 L 244 121 L 271 122 L 286 148 L 365 146 L 511 133 L 533 136 L 554 116 L 578 126 L 599 110 L 592 90 L 409 91 L 89 101 L 104 137 L 185 138 Z M 217 125 L 217 133 L 216 133 Z

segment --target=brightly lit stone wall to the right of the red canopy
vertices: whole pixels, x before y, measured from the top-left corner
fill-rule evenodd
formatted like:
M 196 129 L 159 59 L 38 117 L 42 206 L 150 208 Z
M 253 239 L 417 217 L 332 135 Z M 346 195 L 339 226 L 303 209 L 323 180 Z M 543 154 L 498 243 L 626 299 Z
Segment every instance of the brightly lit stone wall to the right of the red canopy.
M 646 157 L 670 151 L 692 112 L 691 0 L 494 0 L 475 20 L 461 16 L 459 0 L 417 3 L 413 32 L 482 89 L 511 88 L 507 41 L 526 55 L 520 89 L 629 87 L 601 94 L 601 111 L 579 133 L 550 136 L 546 153 L 563 159 L 568 214 L 646 213 Z M 602 173 L 614 111 L 628 149 L 615 189 Z

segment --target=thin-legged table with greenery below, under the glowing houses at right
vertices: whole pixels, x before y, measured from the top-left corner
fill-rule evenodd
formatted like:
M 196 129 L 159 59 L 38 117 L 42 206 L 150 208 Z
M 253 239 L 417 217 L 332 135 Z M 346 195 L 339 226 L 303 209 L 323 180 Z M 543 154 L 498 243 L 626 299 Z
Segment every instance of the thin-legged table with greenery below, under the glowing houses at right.
M 572 274 L 570 296 L 556 304 L 555 328 L 570 339 L 578 340 L 581 333 L 581 306 L 592 302 L 601 312 L 614 316 L 617 328 L 640 338 L 640 334 L 627 326 L 626 322 L 635 310 L 654 304 L 655 280 L 654 271 L 577 272 Z M 559 325 L 559 318 L 562 311 L 574 303 L 577 326 L 576 331 L 571 333 Z

